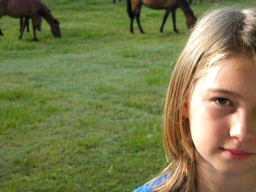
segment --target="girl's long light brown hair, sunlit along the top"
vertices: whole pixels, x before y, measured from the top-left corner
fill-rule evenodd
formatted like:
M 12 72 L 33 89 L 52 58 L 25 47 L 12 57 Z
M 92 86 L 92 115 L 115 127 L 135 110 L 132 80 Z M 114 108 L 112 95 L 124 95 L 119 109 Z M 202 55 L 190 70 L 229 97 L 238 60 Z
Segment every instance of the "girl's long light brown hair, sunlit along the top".
M 154 191 L 197 191 L 196 151 L 182 107 L 190 99 L 194 83 L 214 63 L 230 54 L 248 51 L 255 60 L 256 9 L 221 8 L 205 14 L 194 26 L 174 67 L 166 95 L 163 140 L 170 163 L 154 180 L 166 174 L 169 177 L 162 185 L 154 187 Z

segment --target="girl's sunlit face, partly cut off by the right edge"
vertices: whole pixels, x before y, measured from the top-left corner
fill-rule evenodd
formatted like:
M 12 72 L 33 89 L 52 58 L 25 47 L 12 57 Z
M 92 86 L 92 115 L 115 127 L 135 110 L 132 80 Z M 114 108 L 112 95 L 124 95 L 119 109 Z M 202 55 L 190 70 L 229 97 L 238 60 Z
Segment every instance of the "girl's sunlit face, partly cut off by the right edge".
M 194 86 L 184 116 L 199 168 L 255 177 L 256 65 L 250 54 L 212 66 Z

